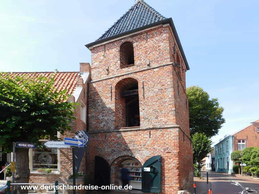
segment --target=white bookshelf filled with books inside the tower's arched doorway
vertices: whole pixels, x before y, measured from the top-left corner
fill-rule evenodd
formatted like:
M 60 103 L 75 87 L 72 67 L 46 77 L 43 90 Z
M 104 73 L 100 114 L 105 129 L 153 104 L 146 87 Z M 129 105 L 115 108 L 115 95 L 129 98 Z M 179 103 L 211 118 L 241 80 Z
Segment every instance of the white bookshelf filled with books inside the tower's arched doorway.
M 133 189 L 141 189 L 142 167 L 140 164 L 136 160 L 125 160 L 121 165 L 124 165 L 129 170 L 129 176 L 131 178 L 129 185 L 131 185 Z

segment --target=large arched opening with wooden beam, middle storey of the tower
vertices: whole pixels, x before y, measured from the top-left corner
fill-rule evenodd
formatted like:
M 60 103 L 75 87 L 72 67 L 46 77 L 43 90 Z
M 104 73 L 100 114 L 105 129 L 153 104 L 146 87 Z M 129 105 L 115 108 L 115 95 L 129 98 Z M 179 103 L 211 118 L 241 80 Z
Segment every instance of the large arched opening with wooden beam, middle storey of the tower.
M 125 78 L 115 86 L 116 126 L 140 126 L 138 81 Z

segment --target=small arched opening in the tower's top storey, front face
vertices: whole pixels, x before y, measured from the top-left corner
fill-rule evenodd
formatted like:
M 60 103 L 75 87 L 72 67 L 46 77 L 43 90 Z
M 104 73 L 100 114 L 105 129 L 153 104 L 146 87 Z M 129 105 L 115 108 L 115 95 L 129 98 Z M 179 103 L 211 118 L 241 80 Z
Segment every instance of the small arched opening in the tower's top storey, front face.
M 134 65 L 134 49 L 131 42 L 125 42 L 120 48 L 121 67 Z

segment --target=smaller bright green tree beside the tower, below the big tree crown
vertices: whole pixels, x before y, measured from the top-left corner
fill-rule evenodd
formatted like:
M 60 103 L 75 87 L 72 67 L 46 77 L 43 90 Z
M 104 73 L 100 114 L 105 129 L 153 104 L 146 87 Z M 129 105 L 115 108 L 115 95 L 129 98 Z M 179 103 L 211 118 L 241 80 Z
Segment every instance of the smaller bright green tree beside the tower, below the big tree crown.
M 212 141 L 205 133 L 195 133 L 192 136 L 193 141 L 193 164 L 197 164 L 197 169 L 199 169 L 199 176 L 201 175 L 202 159 L 207 157 L 207 155 L 212 150 Z

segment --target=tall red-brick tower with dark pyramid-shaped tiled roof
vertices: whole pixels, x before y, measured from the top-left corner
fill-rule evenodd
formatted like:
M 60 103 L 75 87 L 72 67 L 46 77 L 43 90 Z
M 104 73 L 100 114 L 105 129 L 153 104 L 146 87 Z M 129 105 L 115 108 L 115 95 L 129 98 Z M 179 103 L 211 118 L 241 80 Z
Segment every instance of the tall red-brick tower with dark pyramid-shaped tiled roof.
M 172 18 L 138 0 L 85 46 L 92 52 L 88 180 L 119 185 L 123 164 L 131 172 L 130 184 L 141 189 L 141 168 L 161 156 L 161 193 L 187 189 L 193 182 L 185 84 L 189 66 Z

